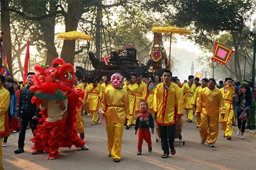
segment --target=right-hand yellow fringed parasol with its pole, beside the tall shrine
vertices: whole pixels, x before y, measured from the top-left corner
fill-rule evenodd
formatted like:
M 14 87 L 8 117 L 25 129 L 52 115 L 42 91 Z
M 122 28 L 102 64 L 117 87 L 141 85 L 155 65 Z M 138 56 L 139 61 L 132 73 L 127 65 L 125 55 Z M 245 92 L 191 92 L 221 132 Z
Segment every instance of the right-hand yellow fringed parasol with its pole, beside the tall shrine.
M 164 34 L 170 34 L 170 52 L 169 52 L 169 63 L 168 67 L 171 68 L 171 36 L 173 33 L 177 34 L 190 34 L 189 29 L 183 29 L 183 28 L 178 28 L 178 27 L 153 27 L 152 28 L 153 32 L 156 33 L 164 33 Z

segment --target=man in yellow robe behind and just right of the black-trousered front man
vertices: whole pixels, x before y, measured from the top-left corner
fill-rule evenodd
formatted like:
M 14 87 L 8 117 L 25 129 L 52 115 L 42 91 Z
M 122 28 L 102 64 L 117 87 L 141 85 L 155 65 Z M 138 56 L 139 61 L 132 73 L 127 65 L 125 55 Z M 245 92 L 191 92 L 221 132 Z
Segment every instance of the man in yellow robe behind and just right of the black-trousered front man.
M 189 76 L 189 81 L 182 86 L 184 92 L 183 108 L 186 111 L 186 121 L 191 123 L 193 120 L 193 98 L 195 93 L 194 76 Z

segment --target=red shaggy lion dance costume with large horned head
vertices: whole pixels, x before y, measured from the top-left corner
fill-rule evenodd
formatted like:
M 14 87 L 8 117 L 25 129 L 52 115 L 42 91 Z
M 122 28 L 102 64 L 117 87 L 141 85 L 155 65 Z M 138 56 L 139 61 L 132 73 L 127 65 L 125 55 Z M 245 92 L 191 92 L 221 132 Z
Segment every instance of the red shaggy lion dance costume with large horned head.
M 71 148 L 75 145 L 77 148 L 88 150 L 86 143 L 77 136 L 75 125 L 76 108 L 82 106 L 80 98 L 83 99 L 85 93 L 81 89 L 73 88 L 73 66 L 65 63 L 62 58 L 56 58 L 52 62 L 52 67 L 36 65 L 35 70 L 35 86 L 30 89 L 36 92 L 33 101 L 41 108 L 42 118 L 38 129 L 35 130 L 36 136 L 31 139 L 35 142 L 32 149 L 40 153 L 48 152 L 47 159 L 59 158 L 57 155 L 60 147 Z M 41 106 L 43 100 L 47 101 L 44 108 Z M 60 100 L 66 103 L 64 111 L 58 104 Z

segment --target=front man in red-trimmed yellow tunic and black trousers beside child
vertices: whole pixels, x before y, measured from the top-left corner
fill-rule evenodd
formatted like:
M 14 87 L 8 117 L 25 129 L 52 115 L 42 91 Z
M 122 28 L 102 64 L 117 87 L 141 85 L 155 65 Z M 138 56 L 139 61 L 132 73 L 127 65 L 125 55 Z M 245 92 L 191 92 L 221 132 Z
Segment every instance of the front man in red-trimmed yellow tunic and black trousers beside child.
M 159 126 L 161 146 L 164 154 L 162 158 L 167 158 L 170 154 L 175 154 L 175 118 L 183 116 L 182 96 L 179 86 L 171 82 L 172 73 L 169 70 L 163 72 L 163 83 L 156 86 L 154 96 L 154 112 L 156 113 L 156 123 Z

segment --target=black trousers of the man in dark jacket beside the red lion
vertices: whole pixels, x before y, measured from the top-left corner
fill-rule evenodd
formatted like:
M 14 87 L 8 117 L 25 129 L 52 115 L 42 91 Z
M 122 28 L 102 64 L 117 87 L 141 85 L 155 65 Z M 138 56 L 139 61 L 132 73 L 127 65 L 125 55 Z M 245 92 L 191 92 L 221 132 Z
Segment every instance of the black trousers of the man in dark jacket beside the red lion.
M 18 148 L 24 148 L 24 141 L 26 136 L 26 129 L 28 126 L 28 122 L 30 124 L 31 131 L 33 133 L 33 136 L 36 134 L 34 133 L 34 130 L 37 129 L 38 121 L 32 120 L 34 116 L 34 113 L 21 113 L 21 127 L 19 129 L 19 139 L 18 139 Z

